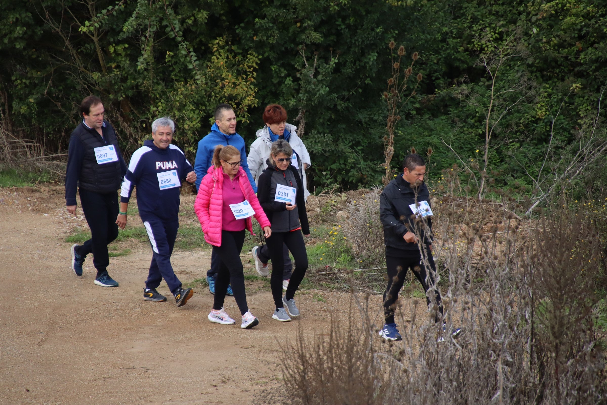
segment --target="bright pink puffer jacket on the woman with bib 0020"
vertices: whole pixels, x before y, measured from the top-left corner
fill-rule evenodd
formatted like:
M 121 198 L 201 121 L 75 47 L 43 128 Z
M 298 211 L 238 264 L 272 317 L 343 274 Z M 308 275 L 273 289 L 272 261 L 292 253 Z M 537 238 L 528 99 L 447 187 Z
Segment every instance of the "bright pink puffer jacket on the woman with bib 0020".
M 255 210 L 255 219 L 262 226 L 271 226 L 268 217 L 263 212 L 263 208 L 259 205 L 257 196 L 253 192 L 253 187 L 249 183 L 246 172 L 240 168 L 237 176 L 240 176 L 239 185 L 245 199 L 251 204 Z M 202 225 L 202 231 L 205 233 L 206 243 L 214 246 L 222 245 L 222 209 L 223 209 L 223 169 L 222 166 L 215 168 L 211 166 L 205 177 L 200 182 L 198 188 L 198 196 L 194 202 L 194 211 Z M 251 217 L 246 219 L 246 229 L 253 233 L 253 223 Z

